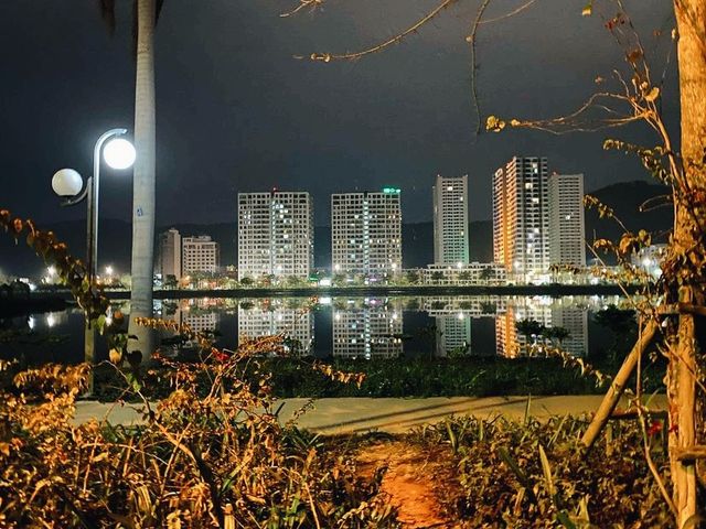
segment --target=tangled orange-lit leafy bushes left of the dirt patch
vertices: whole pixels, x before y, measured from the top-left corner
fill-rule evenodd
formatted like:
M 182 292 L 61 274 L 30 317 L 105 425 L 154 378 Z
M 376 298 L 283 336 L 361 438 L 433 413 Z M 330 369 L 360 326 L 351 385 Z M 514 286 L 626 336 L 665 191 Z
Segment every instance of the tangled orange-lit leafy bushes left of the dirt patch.
M 3 527 L 398 527 L 379 481 L 361 479 L 349 451 L 281 424 L 259 365 L 271 339 L 231 354 L 204 341 L 201 361 L 162 359 L 171 391 L 143 399 L 129 428 L 75 423 L 86 364 L 18 374 L 19 393 L 0 395 Z

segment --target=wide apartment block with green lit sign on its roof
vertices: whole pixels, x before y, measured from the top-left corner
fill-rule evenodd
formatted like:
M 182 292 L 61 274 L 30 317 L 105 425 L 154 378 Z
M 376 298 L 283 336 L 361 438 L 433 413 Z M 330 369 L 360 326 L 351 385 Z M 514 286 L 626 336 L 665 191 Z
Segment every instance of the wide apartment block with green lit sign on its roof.
M 331 195 L 333 273 L 379 280 L 402 270 L 399 190 Z

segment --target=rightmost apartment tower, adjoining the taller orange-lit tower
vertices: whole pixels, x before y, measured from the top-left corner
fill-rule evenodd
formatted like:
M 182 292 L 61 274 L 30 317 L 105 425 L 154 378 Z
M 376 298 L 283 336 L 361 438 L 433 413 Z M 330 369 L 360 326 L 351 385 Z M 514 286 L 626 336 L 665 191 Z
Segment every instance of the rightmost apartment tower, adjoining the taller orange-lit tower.
M 549 176 L 549 263 L 586 266 L 584 175 Z

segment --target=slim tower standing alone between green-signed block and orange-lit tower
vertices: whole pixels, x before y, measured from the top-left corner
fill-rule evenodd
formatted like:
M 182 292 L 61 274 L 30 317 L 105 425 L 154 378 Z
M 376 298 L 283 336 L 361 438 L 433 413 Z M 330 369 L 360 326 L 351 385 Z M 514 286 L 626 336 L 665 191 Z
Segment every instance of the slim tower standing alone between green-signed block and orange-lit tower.
M 457 177 L 437 175 L 434 185 L 434 262 L 467 264 L 468 174 Z

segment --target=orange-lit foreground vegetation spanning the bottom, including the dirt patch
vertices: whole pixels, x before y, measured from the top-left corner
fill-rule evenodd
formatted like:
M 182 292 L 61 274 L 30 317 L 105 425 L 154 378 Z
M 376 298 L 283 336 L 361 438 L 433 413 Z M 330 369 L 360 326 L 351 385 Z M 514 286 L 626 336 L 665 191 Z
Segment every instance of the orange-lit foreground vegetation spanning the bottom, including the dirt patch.
M 409 516 L 447 528 L 672 527 L 641 457 L 646 443 L 668 477 L 661 419 L 613 422 L 592 451 L 579 444 L 586 418 L 528 414 L 320 438 L 280 423 L 268 365 L 252 349 L 213 353 L 169 363 L 158 404 L 124 380 L 147 406 L 137 427 L 73 421 L 87 365 L 17 374 L 17 390 L 0 396 L 2 527 L 424 527 L 402 525 Z

